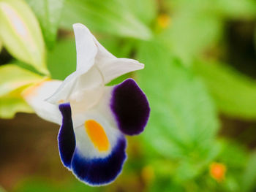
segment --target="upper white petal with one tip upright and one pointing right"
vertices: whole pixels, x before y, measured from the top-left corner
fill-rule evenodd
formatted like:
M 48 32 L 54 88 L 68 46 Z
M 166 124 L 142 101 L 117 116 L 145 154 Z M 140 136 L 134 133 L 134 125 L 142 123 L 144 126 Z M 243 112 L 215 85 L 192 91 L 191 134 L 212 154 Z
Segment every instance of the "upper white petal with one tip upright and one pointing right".
M 97 41 L 86 26 L 77 23 L 74 25 L 74 31 L 78 55 L 77 70 L 89 68 L 87 63 L 95 58 L 95 64 L 99 67 L 107 84 L 122 74 L 144 68 L 143 64 L 134 59 L 116 58 Z M 92 56 L 94 58 L 91 58 Z

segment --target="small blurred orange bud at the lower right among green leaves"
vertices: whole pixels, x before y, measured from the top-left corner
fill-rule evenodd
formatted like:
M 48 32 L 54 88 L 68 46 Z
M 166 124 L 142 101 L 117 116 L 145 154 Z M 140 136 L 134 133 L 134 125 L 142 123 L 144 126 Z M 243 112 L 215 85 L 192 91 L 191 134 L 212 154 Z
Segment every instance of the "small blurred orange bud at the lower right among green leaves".
M 210 165 L 211 177 L 213 177 L 214 180 L 217 180 L 218 182 L 221 182 L 225 179 L 226 170 L 227 168 L 225 164 L 219 164 L 214 162 Z

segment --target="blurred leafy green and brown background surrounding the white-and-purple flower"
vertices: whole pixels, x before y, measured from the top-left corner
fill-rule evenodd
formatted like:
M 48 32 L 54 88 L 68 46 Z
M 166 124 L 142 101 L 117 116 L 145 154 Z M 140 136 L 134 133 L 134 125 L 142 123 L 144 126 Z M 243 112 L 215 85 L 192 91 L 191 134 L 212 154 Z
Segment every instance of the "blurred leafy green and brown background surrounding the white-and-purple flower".
M 75 71 L 73 23 L 145 69 L 146 131 L 105 187 L 62 166 L 22 91 Z M 0 191 L 256 191 L 255 0 L 0 0 Z

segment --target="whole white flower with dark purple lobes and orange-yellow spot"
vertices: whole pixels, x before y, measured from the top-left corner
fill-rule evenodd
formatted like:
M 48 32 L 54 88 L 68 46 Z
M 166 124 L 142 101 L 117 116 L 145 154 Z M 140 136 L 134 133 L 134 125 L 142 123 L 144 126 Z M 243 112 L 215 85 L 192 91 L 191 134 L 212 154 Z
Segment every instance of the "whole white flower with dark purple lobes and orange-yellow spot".
M 41 82 L 23 96 L 37 115 L 61 125 L 58 141 L 64 166 L 89 185 L 106 185 L 118 176 L 126 159 L 124 134 L 140 134 L 150 109 L 134 80 L 105 85 L 144 65 L 116 58 L 86 26 L 73 28 L 76 71 L 63 82 Z

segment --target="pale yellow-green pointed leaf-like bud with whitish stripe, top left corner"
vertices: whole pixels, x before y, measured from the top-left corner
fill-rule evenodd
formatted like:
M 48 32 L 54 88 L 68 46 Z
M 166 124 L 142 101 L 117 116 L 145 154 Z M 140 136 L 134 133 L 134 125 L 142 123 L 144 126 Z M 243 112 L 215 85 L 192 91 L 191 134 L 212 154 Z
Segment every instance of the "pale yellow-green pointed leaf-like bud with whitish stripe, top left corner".
M 39 23 L 23 0 L 0 0 L 0 39 L 20 61 L 48 74 Z

